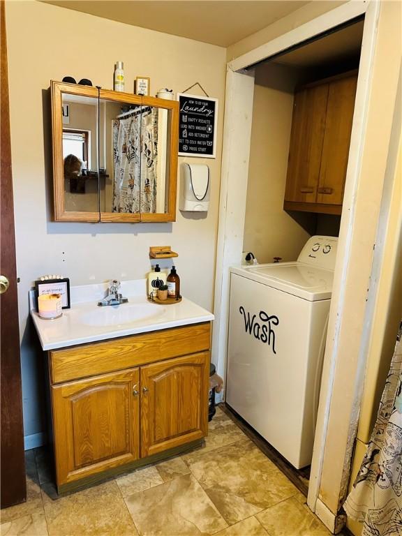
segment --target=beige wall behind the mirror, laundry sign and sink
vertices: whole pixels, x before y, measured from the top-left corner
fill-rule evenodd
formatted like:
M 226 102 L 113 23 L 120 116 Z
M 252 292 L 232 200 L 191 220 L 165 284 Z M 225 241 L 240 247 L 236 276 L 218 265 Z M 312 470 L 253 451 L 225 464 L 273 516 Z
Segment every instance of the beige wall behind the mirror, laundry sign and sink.
M 177 271 L 184 295 L 211 309 L 214 287 L 221 170 L 225 49 L 93 17 L 37 1 L 6 1 L 10 124 L 15 195 L 25 434 L 42 429 L 38 411 L 35 337 L 28 320 L 28 290 L 47 273 L 70 277 L 73 285 L 110 278 L 143 278 L 149 246 L 179 252 Z M 163 224 L 86 224 L 51 221 L 52 159 L 50 80 L 86 77 L 112 87 L 114 63 L 124 61 L 126 90 L 135 76 L 183 91 L 200 82 L 219 99 L 218 147 L 211 169 L 206 216 L 182 216 Z M 179 162 L 184 158 L 179 158 Z M 192 158 L 192 162 L 205 163 Z

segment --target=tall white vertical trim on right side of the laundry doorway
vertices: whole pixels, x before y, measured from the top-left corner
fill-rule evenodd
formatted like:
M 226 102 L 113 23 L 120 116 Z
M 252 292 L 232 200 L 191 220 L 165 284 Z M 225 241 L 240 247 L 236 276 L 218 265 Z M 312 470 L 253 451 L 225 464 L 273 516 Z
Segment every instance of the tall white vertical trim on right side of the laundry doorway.
M 350 139 L 350 157 L 348 161 L 348 171 L 346 176 L 345 193 L 343 198 L 342 222 L 339 235 L 338 255 L 334 274 L 338 281 L 338 292 L 334 292 L 332 300 L 332 311 L 329 322 L 333 319 L 332 326 L 328 327 L 327 348 L 325 352 L 325 366 L 327 374 L 323 372 L 322 389 L 320 394 L 320 408 L 317 419 L 317 429 L 315 433 L 313 461 L 311 464 L 311 478 L 308 487 L 308 506 L 315 511 L 325 525 L 332 530 L 336 530 L 338 521 L 336 512 L 332 512 L 325 502 L 319 498 L 320 484 L 322 476 L 322 466 L 324 463 L 325 445 L 327 442 L 327 431 L 329 423 L 329 411 L 334 392 L 334 379 L 336 374 L 336 364 L 338 361 L 338 343 L 340 337 L 341 320 L 345 305 L 345 279 L 348 274 L 350 255 L 352 252 L 352 240 L 356 233 L 355 228 L 355 205 L 357 199 L 357 188 L 362 165 L 362 152 L 364 147 L 366 120 L 368 113 L 368 101 L 373 75 L 373 58 L 375 54 L 375 43 L 377 38 L 378 17 L 380 13 L 380 2 L 371 2 L 367 6 L 364 32 L 362 40 L 362 55 L 359 65 L 359 76 L 357 82 L 357 92 L 355 100 L 355 111 L 353 115 L 352 135 Z M 375 237 L 373 237 L 374 243 Z M 364 356 L 362 356 L 364 359 Z M 364 364 L 362 364 L 364 366 Z M 327 382 L 325 382 L 327 380 Z M 345 396 L 349 393 L 345 392 Z M 350 394 L 353 396 L 353 394 Z M 349 417 L 349 415 L 348 415 Z M 347 418 L 348 418 L 347 417 Z M 342 456 L 342 453 L 339 453 Z M 342 460 L 343 462 L 343 460 Z M 340 491 L 340 490 L 339 490 Z M 341 523 L 343 520 L 341 520 Z

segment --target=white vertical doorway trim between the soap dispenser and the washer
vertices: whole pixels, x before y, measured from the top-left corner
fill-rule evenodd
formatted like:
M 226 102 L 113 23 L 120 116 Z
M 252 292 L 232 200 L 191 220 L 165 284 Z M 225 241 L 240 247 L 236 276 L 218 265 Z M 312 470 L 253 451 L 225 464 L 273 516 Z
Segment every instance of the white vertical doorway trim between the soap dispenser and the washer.
M 253 98 L 254 73 L 236 73 L 228 66 L 211 352 L 217 372 L 223 378 L 228 339 L 229 267 L 239 264 L 243 249 Z

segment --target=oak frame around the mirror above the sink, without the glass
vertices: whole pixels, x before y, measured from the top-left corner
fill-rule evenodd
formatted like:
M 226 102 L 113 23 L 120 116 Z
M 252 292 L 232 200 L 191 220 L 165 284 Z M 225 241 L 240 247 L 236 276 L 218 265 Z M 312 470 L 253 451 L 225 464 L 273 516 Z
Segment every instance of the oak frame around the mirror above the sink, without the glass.
M 177 159 L 179 145 L 179 103 L 164 98 L 139 96 L 99 89 L 92 86 L 51 82 L 52 94 L 52 142 L 53 142 L 53 184 L 54 184 L 54 221 L 88 221 L 88 222 L 168 222 L 176 221 L 177 200 Z M 159 213 L 122 213 L 122 212 L 85 212 L 66 211 L 64 193 L 64 160 L 63 160 L 63 119 L 61 117 L 62 94 L 74 94 L 98 98 L 101 101 L 124 102 L 127 104 L 152 106 L 170 111 L 170 136 L 168 137 L 168 191 L 167 208 Z M 98 156 L 99 157 L 99 156 Z M 98 183 L 99 190 L 99 183 Z

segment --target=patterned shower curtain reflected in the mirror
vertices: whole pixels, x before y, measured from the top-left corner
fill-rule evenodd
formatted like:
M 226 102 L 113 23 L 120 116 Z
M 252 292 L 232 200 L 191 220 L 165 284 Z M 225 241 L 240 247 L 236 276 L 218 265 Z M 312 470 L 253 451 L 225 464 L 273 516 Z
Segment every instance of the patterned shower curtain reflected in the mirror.
M 156 108 L 113 120 L 113 158 L 113 212 L 156 212 Z

